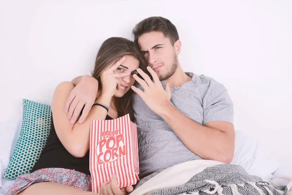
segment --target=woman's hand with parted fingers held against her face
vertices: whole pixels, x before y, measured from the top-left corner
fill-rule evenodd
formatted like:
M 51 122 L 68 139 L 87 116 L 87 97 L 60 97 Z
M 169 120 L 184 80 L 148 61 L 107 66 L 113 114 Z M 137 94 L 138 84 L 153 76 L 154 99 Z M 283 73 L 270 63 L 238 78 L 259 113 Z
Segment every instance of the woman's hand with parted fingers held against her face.
M 119 59 L 117 62 L 112 64 L 110 68 L 105 70 L 101 76 L 101 87 L 102 87 L 102 94 L 106 94 L 107 97 L 112 97 L 116 92 L 117 86 L 120 85 L 120 82 L 117 78 L 125 77 L 129 75 L 129 73 L 121 73 L 121 74 L 114 74 L 115 71 L 123 61 L 125 61 L 126 57 L 124 56 L 122 59 Z

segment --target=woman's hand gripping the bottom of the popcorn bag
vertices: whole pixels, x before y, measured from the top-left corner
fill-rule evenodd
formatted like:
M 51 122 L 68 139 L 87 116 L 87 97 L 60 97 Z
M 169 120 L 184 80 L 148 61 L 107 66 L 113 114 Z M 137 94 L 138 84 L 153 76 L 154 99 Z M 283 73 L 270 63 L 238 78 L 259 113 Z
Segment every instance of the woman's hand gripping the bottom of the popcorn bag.
M 106 181 L 101 185 L 100 193 L 102 195 L 127 195 L 133 191 L 133 186 L 127 186 L 120 189 L 117 176 L 113 175 L 111 181 Z

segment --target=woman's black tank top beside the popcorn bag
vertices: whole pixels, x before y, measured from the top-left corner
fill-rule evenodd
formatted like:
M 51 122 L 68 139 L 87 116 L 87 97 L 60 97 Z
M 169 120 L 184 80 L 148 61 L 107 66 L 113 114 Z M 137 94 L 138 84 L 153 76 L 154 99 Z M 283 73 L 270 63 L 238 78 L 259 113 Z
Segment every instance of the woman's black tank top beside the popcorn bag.
M 43 168 L 64 168 L 71 170 L 74 169 L 75 171 L 79 171 L 90 176 L 90 151 L 87 151 L 86 155 L 80 158 L 71 155 L 57 137 L 53 117 L 51 118 L 52 125 L 47 143 L 30 173 Z M 112 118 L 107 115 L 106 120 L 110 119 Z

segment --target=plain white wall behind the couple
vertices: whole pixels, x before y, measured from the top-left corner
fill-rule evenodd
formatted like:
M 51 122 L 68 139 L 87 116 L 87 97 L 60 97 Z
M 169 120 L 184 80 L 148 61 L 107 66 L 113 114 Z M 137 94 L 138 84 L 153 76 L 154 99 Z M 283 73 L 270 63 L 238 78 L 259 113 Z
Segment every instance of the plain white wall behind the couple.
M 223 83 L 236 129 L 288 165 L 291 10 L 291 0 L 0 0 L 0 121 L 21 115 L 22 98 L 50 104 L 57 83 L 90 74 L 103 40 L 132 39 L 137 22 L 163 16 L 178 28 L 183 69 Z

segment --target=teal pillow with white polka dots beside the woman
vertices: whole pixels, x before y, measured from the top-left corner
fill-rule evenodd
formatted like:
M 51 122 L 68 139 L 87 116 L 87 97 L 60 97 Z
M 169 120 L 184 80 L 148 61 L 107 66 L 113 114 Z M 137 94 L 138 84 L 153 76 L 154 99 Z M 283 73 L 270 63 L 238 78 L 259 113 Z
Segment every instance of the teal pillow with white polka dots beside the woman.
M 23 99 L 22 124 L 4 179 L 29 173 L 46 145 L 51 129 L 51 106 Z

